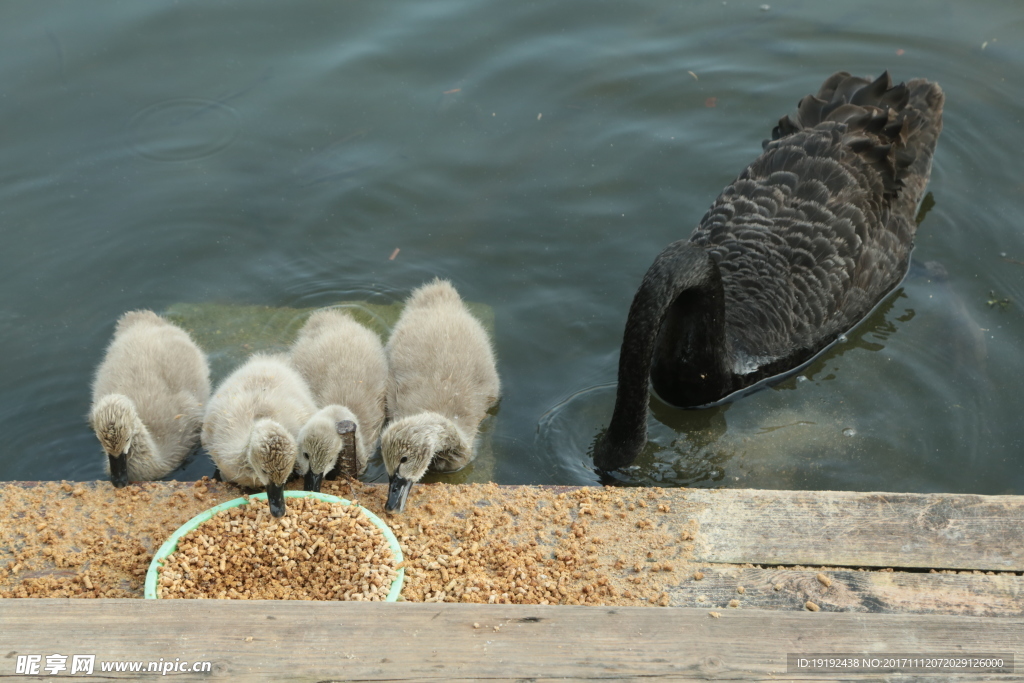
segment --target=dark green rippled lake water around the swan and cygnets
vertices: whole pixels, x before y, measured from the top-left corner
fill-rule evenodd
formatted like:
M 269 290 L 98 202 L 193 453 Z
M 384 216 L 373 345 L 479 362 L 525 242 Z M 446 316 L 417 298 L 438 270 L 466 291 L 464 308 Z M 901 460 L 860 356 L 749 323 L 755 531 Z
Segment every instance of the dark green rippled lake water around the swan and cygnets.
M 652 399 L 622 479 L 1024 493 L 1019 0 L 0 4 L 0 478 L 103 477 L 125 310 L 441 275 L 493 309 L 505 390 L 453 480 L 594 483 L 651 260 L 801 96 L 885 69 L 947 96 L 911 274 L 799 376 Z

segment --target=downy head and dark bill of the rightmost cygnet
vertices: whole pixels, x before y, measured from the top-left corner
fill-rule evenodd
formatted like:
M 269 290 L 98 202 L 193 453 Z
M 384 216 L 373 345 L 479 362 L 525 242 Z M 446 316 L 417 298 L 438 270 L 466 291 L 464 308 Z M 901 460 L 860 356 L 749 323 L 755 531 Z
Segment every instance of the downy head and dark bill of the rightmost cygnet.
M 421 413 L 392 422 L 381 434 L 381 457 L 390 482 L 388 512 L 401 512 L 413 484 L 423 478 L 434 455 L 447 443 L 450 423 L 440 415 Z

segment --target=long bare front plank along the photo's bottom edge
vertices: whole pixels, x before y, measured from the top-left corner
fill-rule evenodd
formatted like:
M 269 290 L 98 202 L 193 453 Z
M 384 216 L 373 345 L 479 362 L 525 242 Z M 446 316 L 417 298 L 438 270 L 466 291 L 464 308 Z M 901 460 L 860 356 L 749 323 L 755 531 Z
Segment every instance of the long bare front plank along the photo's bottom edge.
M 1021 617 L 752 609 L 46 599 L 0 601 L 0 676 L 18 654 L 211 663 L 177 681 L 794 679 L 787 653 L 1024 651 Z

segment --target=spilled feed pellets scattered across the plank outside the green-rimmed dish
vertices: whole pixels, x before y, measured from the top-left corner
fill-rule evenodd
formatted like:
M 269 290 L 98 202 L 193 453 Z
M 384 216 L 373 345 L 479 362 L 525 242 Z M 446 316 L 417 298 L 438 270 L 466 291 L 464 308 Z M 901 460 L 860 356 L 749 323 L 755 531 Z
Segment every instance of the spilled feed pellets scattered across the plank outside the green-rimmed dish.
M 404 600 L 667 605 L 693 581 L 697 511 L 672 489 L 420 483 L 397 515 L 383 510 L 385 485 L 326 481 L 324 493 L 391 526 Z M 0 597 L 141 598 L 160 545 L 241 495 L 210 480 L 0 484 Z

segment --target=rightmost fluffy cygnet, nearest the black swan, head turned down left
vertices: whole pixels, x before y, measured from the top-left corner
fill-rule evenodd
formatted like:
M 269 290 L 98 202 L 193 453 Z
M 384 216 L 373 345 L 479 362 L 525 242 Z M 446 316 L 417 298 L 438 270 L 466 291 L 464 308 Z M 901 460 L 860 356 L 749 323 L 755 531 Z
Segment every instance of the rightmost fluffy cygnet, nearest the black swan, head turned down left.
M 401 511 L 428 468 L 453 472 L 473 460 L 476 433 L 498 400 L 501 382 L 487 333 L 447 281 L 413 292 L 386 353 L 385 507 Z

